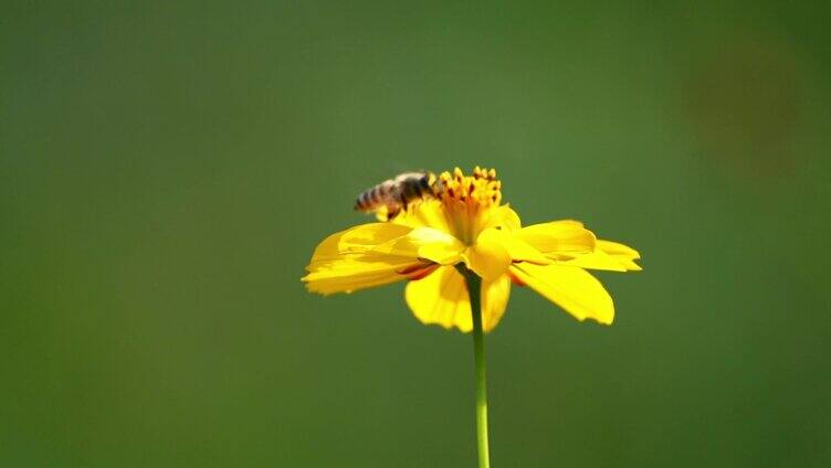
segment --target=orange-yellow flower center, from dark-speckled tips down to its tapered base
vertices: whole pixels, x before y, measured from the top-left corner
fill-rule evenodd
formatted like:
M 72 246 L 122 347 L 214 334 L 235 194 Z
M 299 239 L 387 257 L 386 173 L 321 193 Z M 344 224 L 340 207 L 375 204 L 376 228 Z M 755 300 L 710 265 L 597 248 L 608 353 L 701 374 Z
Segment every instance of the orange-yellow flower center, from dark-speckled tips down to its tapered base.
M 455 168 L 452 174 L 443 172 L 439 176 L 436 184 L 453 234 L 472 245 L 482 232 L 490 210 L 502 202 L 502 182 L 496 180 L 496 170 L 477 166 L 473 176 L 465 176 Z

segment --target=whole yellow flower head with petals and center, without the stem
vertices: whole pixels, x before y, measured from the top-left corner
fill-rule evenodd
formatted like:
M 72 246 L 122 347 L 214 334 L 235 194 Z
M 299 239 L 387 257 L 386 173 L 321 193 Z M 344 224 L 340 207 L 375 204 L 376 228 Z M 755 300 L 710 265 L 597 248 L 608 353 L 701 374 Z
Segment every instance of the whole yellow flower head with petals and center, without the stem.
M 588 269 L 640 270 L 640 255 L 601 241 L 577 221 L 522 227 L 502 204 L 496 171 L 456 168 L 439 177 L 442 190 L 389 222 L 361 224 L 323 241 L 303 278 L 308 290 L 351 292 L 409 279 L 406 299 L 423 323 L 473 328 L 464 265 L 482 278 L 485 331 L 499 322 L 511 284 L 527 286 L 579 320 L 610 325 L 612 298 Z M 379 213 L 383 219 L 385 213 Z

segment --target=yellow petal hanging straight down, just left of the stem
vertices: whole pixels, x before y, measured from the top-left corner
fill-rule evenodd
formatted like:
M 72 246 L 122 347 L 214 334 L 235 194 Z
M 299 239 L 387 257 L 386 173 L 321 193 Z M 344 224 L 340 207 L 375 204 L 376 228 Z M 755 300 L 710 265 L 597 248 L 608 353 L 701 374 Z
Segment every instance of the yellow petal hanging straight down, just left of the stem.
M 464 277 L 452 266 L 441 266 L 425 278 L 407 284 L 407 305 L 424 325 L 473 329 L 471 301 Z

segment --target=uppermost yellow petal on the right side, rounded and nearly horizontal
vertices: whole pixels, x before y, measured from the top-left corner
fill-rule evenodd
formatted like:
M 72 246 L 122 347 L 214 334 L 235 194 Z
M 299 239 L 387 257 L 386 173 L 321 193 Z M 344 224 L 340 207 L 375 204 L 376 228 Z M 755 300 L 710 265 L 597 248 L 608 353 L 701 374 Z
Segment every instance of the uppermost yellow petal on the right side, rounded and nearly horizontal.
M 582 223 L 571 220 L 534 224 L 514 235 L 547 255 L 589 253 L 595 249 L 595 234 Z

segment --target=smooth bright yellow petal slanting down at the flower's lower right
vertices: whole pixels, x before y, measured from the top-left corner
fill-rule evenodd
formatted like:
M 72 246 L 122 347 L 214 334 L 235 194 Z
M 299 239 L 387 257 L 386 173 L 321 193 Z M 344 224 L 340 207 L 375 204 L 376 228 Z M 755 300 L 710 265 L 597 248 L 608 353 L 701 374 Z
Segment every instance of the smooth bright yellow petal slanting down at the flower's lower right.
M 614 305 L 600 281 L 582 268 L 567 265 L 516 264 L 511 273 L 578 320 L 611 325 Z

